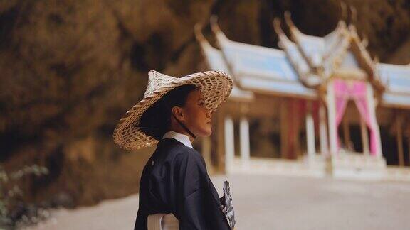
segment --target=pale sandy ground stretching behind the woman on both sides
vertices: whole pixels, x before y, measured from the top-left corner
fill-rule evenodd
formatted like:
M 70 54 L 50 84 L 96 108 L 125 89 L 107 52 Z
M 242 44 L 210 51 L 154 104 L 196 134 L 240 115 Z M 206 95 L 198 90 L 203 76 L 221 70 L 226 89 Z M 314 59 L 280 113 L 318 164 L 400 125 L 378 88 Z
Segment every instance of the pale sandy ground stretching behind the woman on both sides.
M 410 229 L 409 182 L 362 182 L 305 177 L 212 177 L 221 194 L 231 183 L 236 229 Z M 93 207 L 51 212 L 31 229 L 132 229 L 138 196 Z

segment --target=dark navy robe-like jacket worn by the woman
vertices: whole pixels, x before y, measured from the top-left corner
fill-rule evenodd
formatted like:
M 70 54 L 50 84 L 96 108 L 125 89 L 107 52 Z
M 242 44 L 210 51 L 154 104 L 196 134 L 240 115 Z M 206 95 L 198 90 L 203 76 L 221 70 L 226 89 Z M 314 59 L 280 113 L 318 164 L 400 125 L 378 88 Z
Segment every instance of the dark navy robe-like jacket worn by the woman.
M 159 141 L 142 171 L 135 229 L 149 214 L 174 214 L 179 229 L 229 229 L 204 158 L 174 138 Z

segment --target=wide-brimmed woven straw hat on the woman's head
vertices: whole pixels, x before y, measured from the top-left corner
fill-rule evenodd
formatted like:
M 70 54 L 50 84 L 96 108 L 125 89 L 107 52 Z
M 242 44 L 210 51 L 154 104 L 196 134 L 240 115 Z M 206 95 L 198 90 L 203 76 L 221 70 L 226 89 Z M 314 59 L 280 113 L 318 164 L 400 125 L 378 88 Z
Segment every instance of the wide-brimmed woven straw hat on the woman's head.
M 140 130 L 138 124 L 144 111 L 157 102 L 164 94 L 175 87 L 184 84 L 194 84 L 205 99 L 205 106 L 214 111 L 226 97 L 231 94 L 232 80 L 229 75 L 220 71 L 196 72 L 184 77 L 171 77 L 160 72 L 151 70 L 148 73 L 149 80 L 144 99 L 132 106 L 122 116 L 114 130 L 115 143 L 126 150 L 138 150 L 152 146 L 158 141 L 152 136 L 147 136 Z

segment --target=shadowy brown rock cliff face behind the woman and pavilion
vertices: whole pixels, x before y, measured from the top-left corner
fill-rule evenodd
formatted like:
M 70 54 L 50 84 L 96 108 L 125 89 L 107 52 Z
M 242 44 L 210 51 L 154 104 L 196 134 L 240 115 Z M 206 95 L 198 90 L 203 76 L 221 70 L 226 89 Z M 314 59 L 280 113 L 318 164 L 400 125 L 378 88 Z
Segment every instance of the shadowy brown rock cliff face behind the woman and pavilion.
M 409 1 L 346 1 L 359 34 L 384 62 L 410 62 Z M 150 151 L 125 153 L 112 130 L 142 98 L 151 69 L 201 70 L 194 24 L 211 14 L 232 40 L 277 47 L 271 26 L 290 11 L 304 33 L 325 35 L 340 1 L 0 1 L 0 160 L 51 173 L 23 183 L 26 199 L 70 204 L 137 192 Z M 209 27 L 204 32 L 211 39 Z

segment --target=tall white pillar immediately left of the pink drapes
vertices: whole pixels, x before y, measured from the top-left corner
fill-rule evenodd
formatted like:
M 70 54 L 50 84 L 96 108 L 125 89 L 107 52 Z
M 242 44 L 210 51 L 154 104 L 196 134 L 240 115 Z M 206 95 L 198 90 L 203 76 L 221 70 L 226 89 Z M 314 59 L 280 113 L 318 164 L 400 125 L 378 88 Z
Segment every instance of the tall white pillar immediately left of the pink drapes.
M 329 122 L 330 155 L 337 155 L 336 101 L 333 80 L 327 84 L 327 120 Z

